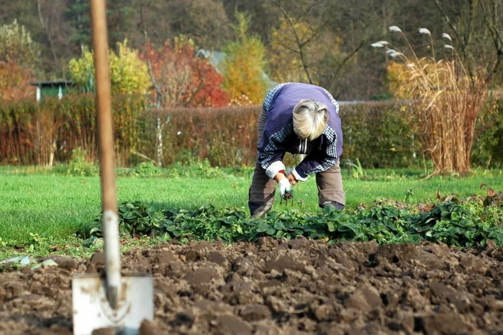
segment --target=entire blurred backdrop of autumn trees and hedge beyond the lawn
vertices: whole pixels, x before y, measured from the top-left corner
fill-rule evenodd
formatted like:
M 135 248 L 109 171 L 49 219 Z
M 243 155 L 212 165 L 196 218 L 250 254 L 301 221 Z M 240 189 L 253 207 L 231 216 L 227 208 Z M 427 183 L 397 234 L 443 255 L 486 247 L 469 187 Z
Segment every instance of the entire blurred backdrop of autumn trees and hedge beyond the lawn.
M 475 122 L 472 163 L 502 165 L 503 0 L 116 0 L 107 6 L 119 165 L 187 157 L 214 166 L 251 164 L 265 92 L 276 82 L 301 81 L 341 101 L 343 160 L 424 167 L 431 157 L 409 122 L 409 105 L 390 100 L 414 97 L 399 79 L 406 69 L 371 48 L 388 39 L 403 45 L 388 34 L 393 25 L 407 33 L 417 59 L 433 49 L 438 59 L 452 56 L 440 42 L 443 33 L 452 36 L 467 77 L 481 80 L 489 93 Z M 418 28 L 435 38 L 425 39 Z M 76 87 L 61 100 L 35 101 L 30 82 L 61 78 Z M 52 166 L 77 148 L 96 160 L 93 91 L 87 0 L 0 3 L 0 163 Z

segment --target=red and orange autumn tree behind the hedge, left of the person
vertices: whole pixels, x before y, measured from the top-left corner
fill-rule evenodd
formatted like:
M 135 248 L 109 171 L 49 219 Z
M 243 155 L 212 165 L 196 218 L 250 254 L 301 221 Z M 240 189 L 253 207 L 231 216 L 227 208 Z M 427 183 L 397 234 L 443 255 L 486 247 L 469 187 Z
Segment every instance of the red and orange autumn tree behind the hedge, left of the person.
M 221 83 L 223 77 L 210 62 L 199 57 L 191 40 L 176 38 L 155 50 L 146 43 L 140 53 L 147 62 L 158 107 L 222 107 L 229 96 Z

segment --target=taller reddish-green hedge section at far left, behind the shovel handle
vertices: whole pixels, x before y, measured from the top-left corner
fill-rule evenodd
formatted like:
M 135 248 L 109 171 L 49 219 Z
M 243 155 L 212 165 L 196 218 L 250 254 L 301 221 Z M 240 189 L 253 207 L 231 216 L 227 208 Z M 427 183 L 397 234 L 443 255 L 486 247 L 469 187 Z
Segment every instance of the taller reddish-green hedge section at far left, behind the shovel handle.
M 143 96 L 117 95 L 113 99 L 117 163 L 135 164 L 131 151 L 142 145 L 140 136 L 145 109 Z M 0 163 L 52 165 L 65 162 L 77 147 L 90 158 L 98 156 L 98 128 L 94 95 L 66 95 L 41 102 L 21 101 L 0 105 Z M 136 158 L 136 161 L 135 161 Z

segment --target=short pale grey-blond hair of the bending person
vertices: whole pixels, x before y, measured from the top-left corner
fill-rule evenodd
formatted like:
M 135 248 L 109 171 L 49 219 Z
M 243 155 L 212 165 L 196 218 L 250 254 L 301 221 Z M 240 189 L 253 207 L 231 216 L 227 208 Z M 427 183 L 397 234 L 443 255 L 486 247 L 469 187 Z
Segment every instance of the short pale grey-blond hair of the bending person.
M 314 99 L 301 100 L 293 108 L 293 131 L 301 139 L 318 138 L 328 122 L 328 107 Z

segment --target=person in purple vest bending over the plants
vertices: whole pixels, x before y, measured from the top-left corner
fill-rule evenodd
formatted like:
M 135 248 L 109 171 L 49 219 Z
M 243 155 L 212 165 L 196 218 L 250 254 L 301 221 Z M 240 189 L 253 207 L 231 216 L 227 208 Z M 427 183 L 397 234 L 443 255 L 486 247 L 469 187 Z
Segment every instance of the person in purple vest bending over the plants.
M 316 175 L 320 207 L 344 209 L 346 203 L 339 157 L 343 134 L 339 104 L 325 89 L 298 82 L 281 83 L 264 99 L 259 117 L 258 155 L 248 193 L 252 217 L 264 216 L 280 195 Z M 305 158 L 288 176 L 282 160 L 286 152 Z

